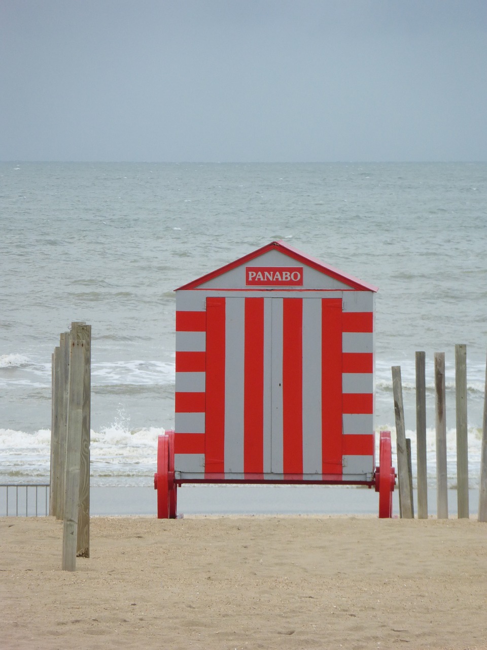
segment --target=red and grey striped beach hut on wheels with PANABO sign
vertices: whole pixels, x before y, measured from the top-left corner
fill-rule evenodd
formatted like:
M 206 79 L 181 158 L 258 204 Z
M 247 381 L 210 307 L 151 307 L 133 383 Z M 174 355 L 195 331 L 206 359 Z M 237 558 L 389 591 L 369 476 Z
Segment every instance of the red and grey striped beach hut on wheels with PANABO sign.
M 184 482 L 375 485 L 375 292 L 282 241 L 176 289 L 160 516 Z

